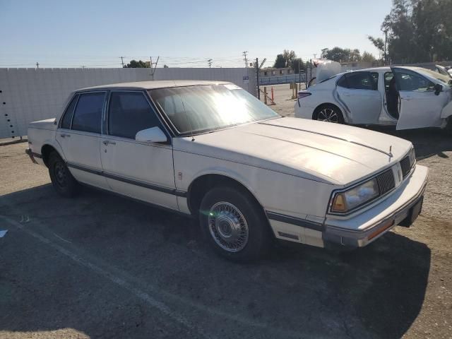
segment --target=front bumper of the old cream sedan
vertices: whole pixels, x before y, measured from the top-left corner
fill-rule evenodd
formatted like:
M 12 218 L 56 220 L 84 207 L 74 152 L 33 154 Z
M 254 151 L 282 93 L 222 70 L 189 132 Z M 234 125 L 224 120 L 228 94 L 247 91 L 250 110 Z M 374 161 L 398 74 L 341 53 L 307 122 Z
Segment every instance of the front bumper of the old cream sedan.
M 428 178 L 427 167 L 414 171 L 388 198 L 349 219 L 326 218 L 322 232 L 326 246 L 362 247 L 374 242 L 396 225 L 409 227 L 422 208 Z

